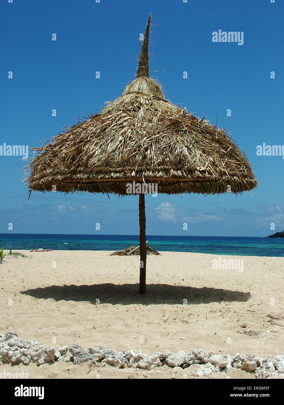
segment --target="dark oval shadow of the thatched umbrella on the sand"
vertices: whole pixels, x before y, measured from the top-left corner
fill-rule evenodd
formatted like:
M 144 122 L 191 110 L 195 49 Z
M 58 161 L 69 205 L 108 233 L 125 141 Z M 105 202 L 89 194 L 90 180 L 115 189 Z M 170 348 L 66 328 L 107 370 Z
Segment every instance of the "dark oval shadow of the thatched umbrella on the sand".
M 211 302 L 246 302 L 250 299 L 250 292 L 224 290 L 212 287 L 171 286 L 168 284 L 149 284 L 147 294 L 137 294 L 139 284 L 93 284 L 90 286 L 49 286 L 21 291 L 21 294 L 35 298 L 52 298 L 55 301 L 89 301 L 112 305 L 129 304 L 181 304 L 187 300 L 188 304 L 204 304 Z

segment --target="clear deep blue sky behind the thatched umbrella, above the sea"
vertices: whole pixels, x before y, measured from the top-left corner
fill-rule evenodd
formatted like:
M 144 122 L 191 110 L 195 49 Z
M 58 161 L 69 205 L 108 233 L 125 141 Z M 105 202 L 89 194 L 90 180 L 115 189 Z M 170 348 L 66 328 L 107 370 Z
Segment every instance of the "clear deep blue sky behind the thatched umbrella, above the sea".
M 120 96 L 135 79 L 149 13 L 150 76 L 171 102 L 212 124 L 217 116 L 246 153 L 259 189 L 146 196 L 146 233 L 266 236 L 271 223 L 283 230 L 284 160 L 256 156 L 257 145 L 284 145 L 280 0 L 2 0 L 0 145 L 38 147 Z M 219 29 L 243 32 L 243 45 L 212 42 Z M 0 156 L 0 232 L 139 233 L 138 196 L 32 192 L 28 200 L 23 166 L 19 156 Z

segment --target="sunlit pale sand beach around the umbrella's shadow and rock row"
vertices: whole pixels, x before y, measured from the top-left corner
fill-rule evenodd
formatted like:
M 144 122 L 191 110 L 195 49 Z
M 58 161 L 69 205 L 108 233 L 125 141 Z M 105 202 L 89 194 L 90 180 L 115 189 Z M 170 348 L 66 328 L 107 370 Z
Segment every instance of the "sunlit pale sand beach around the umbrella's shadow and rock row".
M 161 252 L 147 256 L 147 294 L 139 295 L 139 256 L 21 252 L 28 258 L 7 255 L 0 266 L 3 334 L 16 332 L 19 338 L 55 348 L 76 342 L 85 350 L 102 345 L 150 355 L 199 348 L 231 355 L 284 354 L 284 258 L 239 256 L 243 259 L 239 272 L 212 269 L 212 260 L 219 256 Z M 115 369 L 90 362 L 16 368 L 28 371 L 29 378 L 173 375 L 168 366 Z M 191 366 L 175 377 L 255 378 L 240 369 L 196 377 L 196 369 Z

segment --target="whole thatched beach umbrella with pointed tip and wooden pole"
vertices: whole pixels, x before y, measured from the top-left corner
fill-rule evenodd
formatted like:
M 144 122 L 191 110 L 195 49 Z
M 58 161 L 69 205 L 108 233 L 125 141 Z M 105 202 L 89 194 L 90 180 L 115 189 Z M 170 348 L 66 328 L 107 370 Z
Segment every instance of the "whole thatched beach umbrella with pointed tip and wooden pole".
M 149 78 L 150 18 L 136 79 L 122 96 L 100 114 L 66 128 L 51 143 L 34 148 L 38 153 L 27 166 L 30 190 L 125 196 L 129 183 L 140 185 L 136 189 L 140 191 L 140 294 L 146 292 L 145 194 L 141 186 L 153 183 L 164 194 L 228 190 L 237 194 L 257 184 L 246 156 L 224 130 L 165 100 L 160 85 Z

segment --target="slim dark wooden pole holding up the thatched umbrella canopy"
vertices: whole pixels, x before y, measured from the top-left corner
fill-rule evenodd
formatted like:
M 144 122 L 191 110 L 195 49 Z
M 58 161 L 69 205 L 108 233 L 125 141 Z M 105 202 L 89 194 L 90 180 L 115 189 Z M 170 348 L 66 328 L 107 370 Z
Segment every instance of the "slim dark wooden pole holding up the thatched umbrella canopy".
M 140 278 L 139 294 L 146 294 L 146 216 L 145 216 L 145 194 L 139 194 L 139 247 L 140 247 Z

